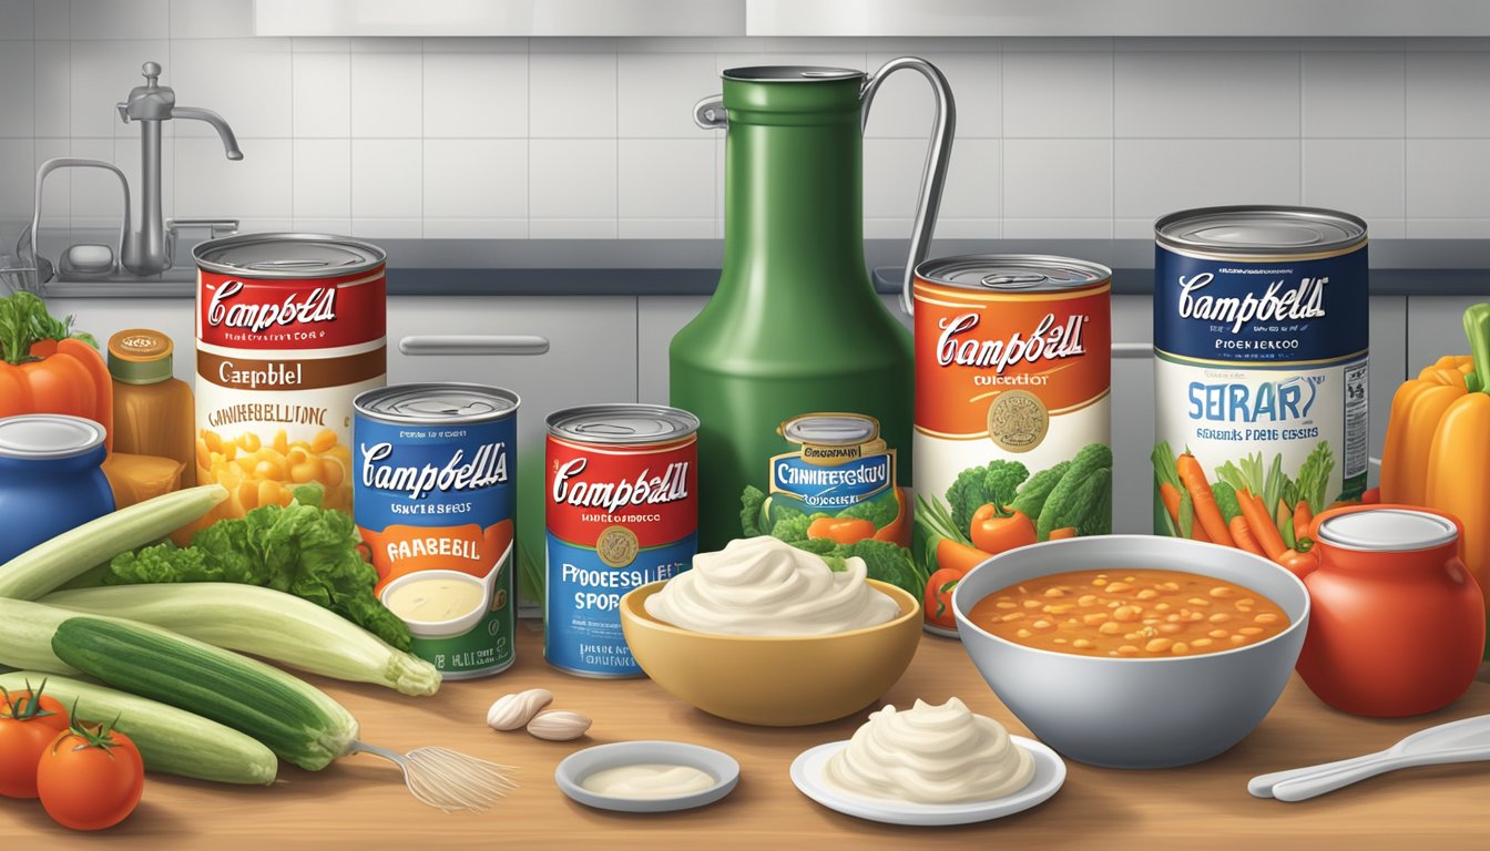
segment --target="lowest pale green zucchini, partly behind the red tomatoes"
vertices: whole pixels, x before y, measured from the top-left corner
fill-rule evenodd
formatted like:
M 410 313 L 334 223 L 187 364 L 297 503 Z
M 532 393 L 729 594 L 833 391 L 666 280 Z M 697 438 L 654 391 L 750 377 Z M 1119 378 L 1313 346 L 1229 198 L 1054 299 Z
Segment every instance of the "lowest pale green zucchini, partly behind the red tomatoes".
M 40 671 L 0 674 L 0 689 L 9 692 L 46 683 L 46 693 L 63 702 L 74 718 L 113 724 L 140 748 L 145 768 L 213 782 L 268 785 L 279 760 L 274 751 L 252 738 L 176 706 L 156 703 Z

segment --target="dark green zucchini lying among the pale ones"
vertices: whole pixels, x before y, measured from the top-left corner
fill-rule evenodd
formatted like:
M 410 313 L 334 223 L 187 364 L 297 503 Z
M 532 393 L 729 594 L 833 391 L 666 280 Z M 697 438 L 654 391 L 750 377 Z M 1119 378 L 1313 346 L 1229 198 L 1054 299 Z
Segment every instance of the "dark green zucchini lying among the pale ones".
M 74 616 L 58 624 L 52 650 L 89 677 L 244 732 L 307 771 L 347 756 L 358 738 L 358 720 L 319 689 L 162 629 Z

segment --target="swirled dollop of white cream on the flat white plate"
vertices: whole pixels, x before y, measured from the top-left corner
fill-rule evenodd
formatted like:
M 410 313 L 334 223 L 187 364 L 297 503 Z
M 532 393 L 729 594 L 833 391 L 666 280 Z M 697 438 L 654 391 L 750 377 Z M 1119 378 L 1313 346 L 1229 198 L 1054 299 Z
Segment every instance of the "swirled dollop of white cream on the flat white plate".
M 833 787 L 915 803 L 963 803 L 1013 794 L 1034 779 L 1034 757 L 998 721 L 957 697 L 872 714 L 824 769 Z

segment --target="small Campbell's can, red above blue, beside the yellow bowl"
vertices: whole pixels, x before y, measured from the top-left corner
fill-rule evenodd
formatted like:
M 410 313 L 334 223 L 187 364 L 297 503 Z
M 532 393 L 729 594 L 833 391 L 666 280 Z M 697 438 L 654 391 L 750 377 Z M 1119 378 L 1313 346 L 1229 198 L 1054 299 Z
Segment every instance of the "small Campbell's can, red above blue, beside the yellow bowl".
M 693 566 L 699 419 L 665 405 L 548 417 L 544 657 L 581 677 L 641 677 L 621 596 Z

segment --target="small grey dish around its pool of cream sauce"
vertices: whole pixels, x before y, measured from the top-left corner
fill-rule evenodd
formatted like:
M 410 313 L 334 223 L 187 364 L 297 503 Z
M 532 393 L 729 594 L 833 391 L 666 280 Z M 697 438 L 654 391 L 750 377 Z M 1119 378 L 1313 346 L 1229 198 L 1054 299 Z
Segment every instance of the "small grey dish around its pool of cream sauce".
M 599 794 L 580 785 L 597 771 L 629 765 L 681 765 L 696 768 L 714 778 L 714 785 L 676 797 L 617 797 Z M 687 742 L 614 742 L 575 751 L 554 769 L 554 782 L 571 799 L 596 809 L 615 812 L 672 812 L 706 806 L 729 794 L 741 779 L 741 765 L 729 754 Z

